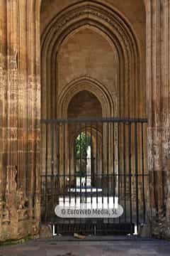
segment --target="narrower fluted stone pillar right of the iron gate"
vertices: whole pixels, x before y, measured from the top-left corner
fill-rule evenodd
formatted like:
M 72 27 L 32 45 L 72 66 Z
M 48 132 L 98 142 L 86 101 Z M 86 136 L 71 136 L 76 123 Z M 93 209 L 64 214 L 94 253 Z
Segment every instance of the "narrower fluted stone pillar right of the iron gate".
M 170 1 L 146 0 L 147 115 L 152 233 L 170 238 Z

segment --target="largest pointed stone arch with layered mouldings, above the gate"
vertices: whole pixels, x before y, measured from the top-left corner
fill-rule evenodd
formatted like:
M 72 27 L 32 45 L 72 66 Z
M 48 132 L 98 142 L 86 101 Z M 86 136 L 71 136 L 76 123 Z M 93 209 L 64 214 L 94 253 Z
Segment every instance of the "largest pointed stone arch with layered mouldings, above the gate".
M 130 24 L 127 24 L 122 16 L 113 9 L 96 2 L 85 1 L 74 4 L 55 17 L 41 37 L 42 51 L 42 97 L 47 95 L 47 90 L 54 90 L 57 85 L 55 73 L 50 70 L 57 70 L 57 54 L 61 43 L 77 29 L 84 26 L 101 31 L 106 40 L 111 42 L 115 53 L 118 56 L 120 75 L 118 78 L 118 90 L 122 93 L 119 102 L 119 115 L 124 117 L 137 117 L 140 110 L 137 110 L 137 100 L 140 101 L 141 70 L 140 47 L 138 46 L 135 33 L 132 32 Z M 135 67 L 133 70 L 132 67 Z M 44 72 L 47 70 L 47 73 Z M 125 73 L 125 74 L 124 74 Z M 48 89 L 47 89 L 48 88 Z M 50 89 L 51 88 L 51 89 Z M 50 92 L 52 95 L 57 93 Z M 118 92 L 117 92 L 118 93 Z M 130 99 L 132 99 L 130 101 Z M 49 99 L 45 99 L 47 102 Z M 142 103 L 141 103 L 142 104 Z M 47 109 L 42 112 L 47 117 Z

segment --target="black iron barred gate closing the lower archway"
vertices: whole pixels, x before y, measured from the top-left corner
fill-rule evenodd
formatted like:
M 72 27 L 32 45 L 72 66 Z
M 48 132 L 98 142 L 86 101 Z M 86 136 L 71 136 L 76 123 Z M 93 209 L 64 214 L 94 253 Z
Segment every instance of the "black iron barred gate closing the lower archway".
M 147 119 L 42 120 L 42 222 L 55 233 L 134 233 L 147 221 Z M 60 218 L 55 206 L 123 207 L 119 218 Z

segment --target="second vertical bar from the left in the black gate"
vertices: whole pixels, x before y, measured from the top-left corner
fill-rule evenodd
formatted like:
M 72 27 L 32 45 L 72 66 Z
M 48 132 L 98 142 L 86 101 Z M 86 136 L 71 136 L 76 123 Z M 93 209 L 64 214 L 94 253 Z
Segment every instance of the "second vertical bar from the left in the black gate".
M 51 214 L 54 218 L 54 125 L 51 124 Z

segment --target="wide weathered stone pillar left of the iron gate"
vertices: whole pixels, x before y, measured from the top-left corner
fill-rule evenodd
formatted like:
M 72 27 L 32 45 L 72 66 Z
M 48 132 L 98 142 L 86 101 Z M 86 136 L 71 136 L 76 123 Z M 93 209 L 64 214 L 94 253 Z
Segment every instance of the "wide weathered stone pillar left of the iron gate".
M 0 1 L 0 240 L 35 235 L 40 223 L 38 3 Z

